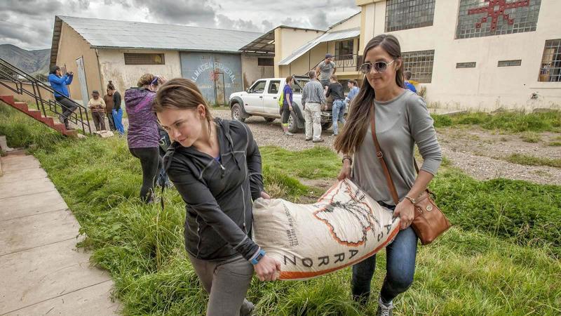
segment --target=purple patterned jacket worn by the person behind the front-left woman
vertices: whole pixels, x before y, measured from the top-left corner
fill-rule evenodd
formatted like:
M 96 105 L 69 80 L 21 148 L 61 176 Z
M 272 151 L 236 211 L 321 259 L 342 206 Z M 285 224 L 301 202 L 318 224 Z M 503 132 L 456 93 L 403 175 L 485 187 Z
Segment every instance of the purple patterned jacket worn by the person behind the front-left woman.
M 152 111 L 156 93 L 145 88 L 125 91 L 125 107 L 128 114 L 127 142 L 129 148 L 158 147 L 160 133 L 156 114 Z M 115 108 L 115 105 L 114 105 Z

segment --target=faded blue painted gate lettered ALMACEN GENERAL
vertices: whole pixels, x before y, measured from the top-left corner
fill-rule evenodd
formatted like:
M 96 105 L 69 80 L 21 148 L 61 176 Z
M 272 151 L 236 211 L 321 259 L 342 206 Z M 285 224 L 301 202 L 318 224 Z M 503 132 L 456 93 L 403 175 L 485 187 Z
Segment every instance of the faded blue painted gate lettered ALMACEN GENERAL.
M 181 53 L 182 77 L 191 79 L 211 105 L 225 105 L 242 90 L 241 56 L 225 53 Z

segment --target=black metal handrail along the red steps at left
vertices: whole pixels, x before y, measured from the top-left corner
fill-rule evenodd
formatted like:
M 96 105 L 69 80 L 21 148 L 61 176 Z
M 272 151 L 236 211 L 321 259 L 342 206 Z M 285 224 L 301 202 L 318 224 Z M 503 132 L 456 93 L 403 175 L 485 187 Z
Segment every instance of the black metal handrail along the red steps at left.
M 20 80 L 20 78 L 25 79 L 25 82 Z M 64 112 L 64 107 L 60 102 L 58 102 L 55 98 L 46 98 L 47 96 L 41 96 L 41 89 L 44 89 L 49 93 L 52 93 L 54 97 L 55 90 L 51 86 L 36 79 L 31 74 L 20 70 L 20 68 L 12 65 L 10 62 L 7 62 L 3 58 L 0 58 L 0 79 L 11 81 L 13 84 L 15 84 L 15 88 L 13 88 L 3 81 L 0 81 L 1 85 L 5 86 L 11 91 L 14 91 L 15 93 L 18 93 L 20 95 L 25 94 L 34 98 L 37 110 L 41 111 L 44 117 L 48 116 L 48 109 L 49 114 L 50 112 L 52 112 L 58 117 L 64 117 L 65 119 L 68 119 L 68 121 L 76 124 L 76 126 L 81 126 L 81 130 L 83 131 L 83 133 L 92 133 L 90 127 L 90 119 L 88 117 L 88 109 L 86 107 L 79 103 L 76 103 L 76 101 L 72 100 L 71 98 L 62 96 L 62 98 L 69 100 L 76 106 L 76 110 L 74 110 L 74 112 L 72 112 L 68 116 L 63 115 L 62 112 Z M 31 89 L 25 88 L 24 83 L 30 84 Z

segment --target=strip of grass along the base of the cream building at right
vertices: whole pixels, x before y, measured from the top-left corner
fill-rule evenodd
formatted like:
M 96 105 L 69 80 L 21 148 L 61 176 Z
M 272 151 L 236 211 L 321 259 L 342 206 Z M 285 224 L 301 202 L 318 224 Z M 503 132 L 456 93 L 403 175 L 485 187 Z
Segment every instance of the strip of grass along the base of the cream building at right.
M 561 111 L 529 113 L 524 112 L 468 112 L 457 115 L 434 114 L 435 127 L 477 125 L 483 129 L 521 133 L 525 131 L 561 132 Z

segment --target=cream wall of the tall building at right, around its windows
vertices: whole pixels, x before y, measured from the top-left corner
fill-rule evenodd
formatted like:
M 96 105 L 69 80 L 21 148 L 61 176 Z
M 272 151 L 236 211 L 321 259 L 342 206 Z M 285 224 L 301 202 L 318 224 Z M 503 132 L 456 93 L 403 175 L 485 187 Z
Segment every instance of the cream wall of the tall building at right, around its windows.
M 459 1 L 436 0 L 433 26 L 391 34 L 403 52 L 435 50 L 432 82 L 421 84 L 429 103 L 478 110 L 551 107 L 561 104 L 561 82 L 539 82 L 538 76 L 545 41 L 561 38 L 557 2 L 541 1 L 536 32 L 455 39 Z M 386 1 L 362 6 L 360 54 L 367 41 L 384 33 L 385 15 Z M 522 65 L 497 67 L 499 60 L 522 60 Z M 457 69 L 457 62 L 477 64 Z M 530 99 L 532 93 L 538 93 L 538 100 Z

